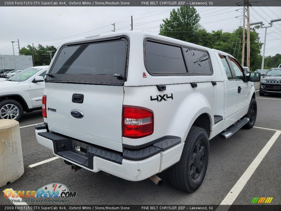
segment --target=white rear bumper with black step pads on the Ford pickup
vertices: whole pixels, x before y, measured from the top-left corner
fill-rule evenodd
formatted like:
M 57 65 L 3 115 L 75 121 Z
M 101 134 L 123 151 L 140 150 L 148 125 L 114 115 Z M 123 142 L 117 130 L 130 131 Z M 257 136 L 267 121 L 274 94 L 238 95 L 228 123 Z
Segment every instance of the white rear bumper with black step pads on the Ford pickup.
M 144 180 L 172 166 L 179 161 L 184 146 L 179 141 L 169 148 L 161 143 L 163 151 L 150 146 L 142 150 L 124 149 L 121 153 L 47 132 L 44 127 L 37 127 L 35 134 L 38 143 L 52 149 L 56 156 L 89 171 L 104 171 L 129 181 Z M 74 150 L 74 145 L 86 148 L 87 154 Z

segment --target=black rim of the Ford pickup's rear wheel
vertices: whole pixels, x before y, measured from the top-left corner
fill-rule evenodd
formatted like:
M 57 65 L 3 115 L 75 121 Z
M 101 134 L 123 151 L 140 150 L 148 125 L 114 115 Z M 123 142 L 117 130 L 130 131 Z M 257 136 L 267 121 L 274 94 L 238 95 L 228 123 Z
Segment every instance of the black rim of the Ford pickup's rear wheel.
M 190 174 L 192 179 L 196 179 L 202 171 L 205 161 L 205 146 L 199 141 L 193 148 L 193 153 L 190 158 Z

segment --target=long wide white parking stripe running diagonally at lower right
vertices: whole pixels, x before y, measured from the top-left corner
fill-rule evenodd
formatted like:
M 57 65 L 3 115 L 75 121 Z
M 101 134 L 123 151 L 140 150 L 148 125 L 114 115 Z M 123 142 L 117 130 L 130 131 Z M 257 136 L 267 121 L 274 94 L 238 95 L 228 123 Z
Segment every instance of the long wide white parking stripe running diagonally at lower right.
M 263 147 L 261 152 L 256 156 L 250 166 L 246 169 L 243 175 L 239 178 L 237 183 L 233 186 L 233 188 L 226 195 L 224 200 L 220 203 L 220 205 L 232 205 L 234 200 L 237 198 L 241 190 L 244 188 L 248 180 L 253 175 L 254 171 L 257 169 L 258 165 L 261 163 L 265 155 L 268 153 L 269 149 L 275 143 L 276 139 L 281 134 L 281 130 L 277 130 L 275 134 L 269 139 L 267 144 Z M 217 210 L 221 210 L 222 207 L 218 207 Z

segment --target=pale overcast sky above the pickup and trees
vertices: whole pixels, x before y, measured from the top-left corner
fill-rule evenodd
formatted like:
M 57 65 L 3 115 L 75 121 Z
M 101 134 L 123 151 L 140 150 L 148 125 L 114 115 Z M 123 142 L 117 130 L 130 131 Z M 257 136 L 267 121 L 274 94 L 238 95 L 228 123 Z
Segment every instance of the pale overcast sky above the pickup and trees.
M 35 46 L 40 43 L 58 47 L 66 40 L 109 32 L 113 30 L 112 23 L 116 23 L 116 31 L 129 30 L 131 15 L 133 30 L 159 33 L 162 19 L 169 18 L 173 8 L 176 7 L 0 7 L 0 54 L 13 54 L 11 41 L 18 39 L 20 47 L 32 45 L 32 42 Z M 201 25 L 208 31 L 222 29 L 232 32 L 243 25 L 242 7 L 196 9 L 201 16 Z M 250 23 L 263 21 L 268 25 L 270 20 L 280 18 L 280 11 L 281 7 L 252 7 Z M 260 33 L 261 42 L 264 42 L 265 30 L 259 29 L 257 32 Z M 266 40 L 265 56 L 281 53 L 281 21 L 268 28 Z M 14 49 L 18 55 L 16 44 Z

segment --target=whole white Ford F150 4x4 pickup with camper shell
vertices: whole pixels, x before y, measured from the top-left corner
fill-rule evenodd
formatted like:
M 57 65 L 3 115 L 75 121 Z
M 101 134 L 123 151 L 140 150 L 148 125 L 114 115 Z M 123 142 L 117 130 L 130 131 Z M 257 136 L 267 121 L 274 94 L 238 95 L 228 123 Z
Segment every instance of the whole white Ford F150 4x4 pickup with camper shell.
M 252 81 L 225 52 L 139 31 L 63 43 L 45 76 L 37 141 L 71 165 L 129 181 L 168 169 L 194 192 L 209 140 L 251 128 Z

